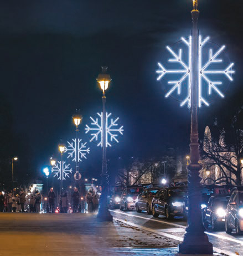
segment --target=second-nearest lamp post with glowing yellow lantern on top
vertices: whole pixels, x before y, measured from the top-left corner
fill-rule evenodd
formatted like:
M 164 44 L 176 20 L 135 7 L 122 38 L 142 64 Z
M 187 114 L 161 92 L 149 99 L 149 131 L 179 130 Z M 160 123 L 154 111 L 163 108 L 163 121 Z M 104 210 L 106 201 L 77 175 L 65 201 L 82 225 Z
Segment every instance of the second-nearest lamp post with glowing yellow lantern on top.
M 111 77 L 106 73 L 107 66 L 102 66 L 102 73 L 99 74 L 97 81 L 103 90 L 102 96 L 102 174 L 101 174 L 101 197 L 100 197 L 100 208 L 97 218 L 100 221 L 112 221 L 113 217 L 108 210 L 108 172 L 107 172 L 107 160 L 106 160 L 106 146 L 107 146 L 107 130 L 106 130 L 106 95 L 105 90 L 110 84 Z

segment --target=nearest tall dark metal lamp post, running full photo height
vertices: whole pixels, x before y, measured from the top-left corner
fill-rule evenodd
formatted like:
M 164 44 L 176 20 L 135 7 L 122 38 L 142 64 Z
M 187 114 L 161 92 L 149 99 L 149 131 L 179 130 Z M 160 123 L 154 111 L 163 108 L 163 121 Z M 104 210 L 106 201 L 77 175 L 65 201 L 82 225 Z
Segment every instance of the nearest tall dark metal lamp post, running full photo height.
M 199 84 L 199 31 L 198 31 L 198 0 L 193 0 L 192 21 L 192 93 L 191 93 L 191 133 L 190 133 L 190 165 L 188 169 L 188 224 L 184 240 L 179 244 L 181 254 L 213 255 L 213 245 L 209 243 L 208 235 L 204 233 L 201 217 L 201 186 L 199 171 L 198 143 L 198 84 Z

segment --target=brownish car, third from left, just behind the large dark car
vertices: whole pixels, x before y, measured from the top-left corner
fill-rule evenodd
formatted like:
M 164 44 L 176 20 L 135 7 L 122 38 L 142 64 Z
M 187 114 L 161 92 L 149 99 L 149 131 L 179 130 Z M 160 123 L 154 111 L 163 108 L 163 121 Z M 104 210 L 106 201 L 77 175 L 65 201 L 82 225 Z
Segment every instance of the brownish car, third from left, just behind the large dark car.
M 152 199 L 161 188 L 147 188 L 142 193 L 138 194 L 136 199 L 137 212 L 147 211 L 148 214 L 152 213 Z

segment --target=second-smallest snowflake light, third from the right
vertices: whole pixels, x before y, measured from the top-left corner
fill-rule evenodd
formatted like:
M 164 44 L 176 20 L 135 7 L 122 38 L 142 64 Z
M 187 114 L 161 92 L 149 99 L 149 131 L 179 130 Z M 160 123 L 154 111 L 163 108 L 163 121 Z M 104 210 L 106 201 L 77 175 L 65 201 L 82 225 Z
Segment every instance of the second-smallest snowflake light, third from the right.
M 72 139 L 73 142 L 68 141 L 68 146 L 65 147 L 64 152 L 68 152 L 68 157 L 72 161 L 81 162 L 82 158 L 87 159 L 86 155 L 90 153 L 90 148 L 87 147 L 87 142 L 82 142 L 82 139 Z M 76 159 L 77 158 L 77 159 Z

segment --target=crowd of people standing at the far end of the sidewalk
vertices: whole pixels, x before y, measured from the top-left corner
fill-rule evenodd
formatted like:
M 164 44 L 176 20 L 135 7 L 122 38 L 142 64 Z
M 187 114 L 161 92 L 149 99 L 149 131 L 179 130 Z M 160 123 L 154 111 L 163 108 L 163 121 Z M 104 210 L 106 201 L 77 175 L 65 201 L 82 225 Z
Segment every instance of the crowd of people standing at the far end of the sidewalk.
M 45 198 L 45 205 L 42 207 L 45 212 L 54 213 L 55 212 L 55 202 L 56 193 L 53 188 L 50 188 L 48 192 L 48 197 Z M 37 212 L 41 210 L 41 204 L 44 202 L 42 194 L 36 190 L 33 193 L 27 194 L 24 190 L 17 192 L 1 192 L 0 191 L 0 212 Z M 77 188 L 74 189 L 73 193 L 70 194 L 70 201 L 73 203 L 72 212 L 80 212 L 82 208 L 83 211 L 87 212 L 97 212 L 99 208 L 99 194 L 95 193 L 93 190 L 89 190 L 85 196 L 87 203 L 87 209 L 85 209 L 84 198 L 80 197 L 80 192 Z M 80 201 L 83 204 L 80 204 Z M 70 205 L 68 192 L 63 191 L 59 197 L 58 208 L 61 213 L 70 212 Z

